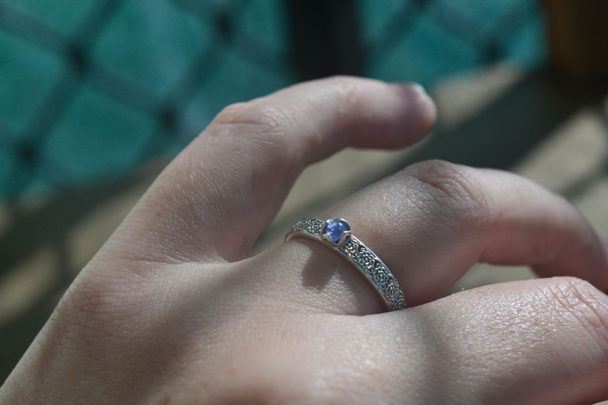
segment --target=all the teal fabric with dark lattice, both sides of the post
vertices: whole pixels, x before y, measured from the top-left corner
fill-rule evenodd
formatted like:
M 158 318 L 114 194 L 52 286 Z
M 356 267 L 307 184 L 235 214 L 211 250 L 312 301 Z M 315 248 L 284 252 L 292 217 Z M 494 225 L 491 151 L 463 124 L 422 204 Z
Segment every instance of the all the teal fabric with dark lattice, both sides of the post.
M 296 80 L 283 1 L 104 1 L 0 0 L 0 199 L 120 179 Z M 432 85 L 489 63 L 488 38 L 545 59 L 534 0 L 421 3 L 356 0 L 365 75 Z

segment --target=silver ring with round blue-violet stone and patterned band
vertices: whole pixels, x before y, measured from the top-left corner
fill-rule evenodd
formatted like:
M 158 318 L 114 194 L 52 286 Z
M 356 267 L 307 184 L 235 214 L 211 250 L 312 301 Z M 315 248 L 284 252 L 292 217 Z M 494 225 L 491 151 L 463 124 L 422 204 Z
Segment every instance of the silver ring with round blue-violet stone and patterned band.
M 319 241 L 344 256 L 375 286 L 389 311 L 406 308 L 403 290 L 395 276 L 369 247 L 351 235 L 350 224 L 344 218 L 327 221 L 303 218 L 289 229 L 285 241 L 295 237 Z

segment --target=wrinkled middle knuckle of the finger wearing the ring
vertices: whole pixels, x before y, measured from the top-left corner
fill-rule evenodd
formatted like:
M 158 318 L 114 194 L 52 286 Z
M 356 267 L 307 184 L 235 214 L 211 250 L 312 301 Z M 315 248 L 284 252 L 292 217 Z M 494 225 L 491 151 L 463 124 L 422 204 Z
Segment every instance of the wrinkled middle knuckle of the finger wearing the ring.
M 432 207 L 432 214 L 441 222 L 480 226 L 489 217 L 491 206 L 483 179 L 471 167 L 446 161 L 419 162 L 398 173 L 406 183 L 412 199 Z

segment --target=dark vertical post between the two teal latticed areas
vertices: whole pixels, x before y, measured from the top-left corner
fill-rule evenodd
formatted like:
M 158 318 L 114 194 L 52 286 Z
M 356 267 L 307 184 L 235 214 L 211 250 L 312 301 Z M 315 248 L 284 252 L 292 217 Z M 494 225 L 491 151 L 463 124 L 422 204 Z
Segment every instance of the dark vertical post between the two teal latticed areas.
M 286 0 L 286 6 L 299 80 L 363 74 L 365 55 L 354 0 Z

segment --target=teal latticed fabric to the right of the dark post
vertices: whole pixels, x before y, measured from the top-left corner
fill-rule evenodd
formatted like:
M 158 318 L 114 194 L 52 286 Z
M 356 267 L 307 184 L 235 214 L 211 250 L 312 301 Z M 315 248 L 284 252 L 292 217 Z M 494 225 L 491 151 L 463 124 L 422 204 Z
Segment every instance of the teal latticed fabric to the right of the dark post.
M 488 63 L 484 45 L 524 68 L 547 57 L 544 20 L 534 0 L 357 0 L 367 75 L 432 85 Z

